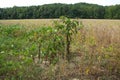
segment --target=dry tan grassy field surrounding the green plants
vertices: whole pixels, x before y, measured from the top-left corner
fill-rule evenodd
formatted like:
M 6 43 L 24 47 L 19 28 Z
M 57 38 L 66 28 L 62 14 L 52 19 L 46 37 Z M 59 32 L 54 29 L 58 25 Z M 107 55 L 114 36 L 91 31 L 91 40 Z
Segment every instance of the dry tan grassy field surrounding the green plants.
M 55 20 L 56 19 L 0 20 L 0 25 L 8 27 L 11 27 L 10 25 L 22 25 L 24 27 L 23 29 L 20 28 L 20 30 L 14 31 L 10 36 L 16 33 L 15 36 L 18 37 L 15 37 L 16 46 L 21 45 L 22 49 L 24 49 L 24 46 L 30 42 L 26 42 L 27 37 L 26 39 L 22 39 L 23 34 L 39 27 L 54 26 L 53 22 Z M 21 78 L 22 80 L 120 80 L 120 20 L 78 20 L 83 23 L 84 27 L 78 31 L 76 36 L 73 36 L 74 39 L 70 48 L 72 57 L 69 63 L 61 59 L 59 63 L 54 66 L 47 63 L 41 65 L 35 60 L 30 66 L 26 67 L 26 65 L 23 64 L 23 72 L 19 73 L 19 70 L 12 69 L 15 72 L 8 72 L 8 77 L 11 76 L 10 74 L 15 75 L 15 73 L 19 73 L 19 75 L 23 77 Z M 4 32 L 2 27 L 0 29 Z M 0 36 L 4 37 L 4 35 L 5 34 L 1 34 Z M 0 43 L 2 43 L 2 38 L 0 41 Z M 8 43 L 9 42 L 11 41 L 8 41 Z M 4 47 L 1 47 L 1 53 L 9 49 L 6 48 L 8 47 L 8 43 L 3 45 Z M 15 50 L 19 50 L 20 48 L 21 47 L 18 46 Z M 10 48 L 8 51 L 12 49 L 13 48 Z M 22 54 L 22 51 L 16 51 L 16 53 Z M 23 51 L 23 53 L 26 52 Z M 18 55 L 15 60 L 19 59 L 19 57 L 21 57 L 21 55 Z M 27 57 L 27 59 L 29 58 Z M 22 60 L 24 59 L 20 61 Z M 0 75 L 3 75 L 3 73 Z M 12 80 L 15 79 L 16 77 L 13 77 Z M 2 80 L 2 78 L 0 80 Z M 6 80 L 9 80 L 9 78 Z

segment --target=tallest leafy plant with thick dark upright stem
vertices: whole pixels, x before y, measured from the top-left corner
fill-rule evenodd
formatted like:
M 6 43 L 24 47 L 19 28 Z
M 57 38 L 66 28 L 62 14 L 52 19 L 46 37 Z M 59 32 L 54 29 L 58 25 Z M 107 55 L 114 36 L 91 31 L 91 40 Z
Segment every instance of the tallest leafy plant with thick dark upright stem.
M 60 17 L 60 21 L 55 21 L 55 28 L 57 29 L 59 35 L 64 37 L 65 42 L 64 58 L 67 58 L 68 61 L 70 60 L 70 45 L 72 42 L 72 36 L 74 34 L 77 34 L 78 28 L 81 27 L 83 26 L 79 26 L 78 21 L 71 20 L 64 16 Z

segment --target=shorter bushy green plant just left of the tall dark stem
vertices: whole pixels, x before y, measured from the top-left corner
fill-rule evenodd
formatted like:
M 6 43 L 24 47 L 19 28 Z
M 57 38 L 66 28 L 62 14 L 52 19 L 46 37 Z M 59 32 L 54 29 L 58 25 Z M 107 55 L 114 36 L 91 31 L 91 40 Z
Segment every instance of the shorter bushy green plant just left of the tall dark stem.
M 53 27 L 40 27 L 30 32 L 30 55 L 34 60 L 35 56 L 39 60 L 48 60 L 55 64 L 58 61 L 58 55 L 63 51 L 64 41 L 62 36 Z M 36 54 L 37 53 L 37 54 Z

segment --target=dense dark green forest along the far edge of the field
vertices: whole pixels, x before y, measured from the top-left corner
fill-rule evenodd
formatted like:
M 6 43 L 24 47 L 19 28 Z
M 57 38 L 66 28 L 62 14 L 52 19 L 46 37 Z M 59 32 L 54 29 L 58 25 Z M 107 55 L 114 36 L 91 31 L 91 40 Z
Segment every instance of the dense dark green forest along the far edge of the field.
M 0 19 L 42 19 L 59 18 L 60 16 L 83 19 L 120 19 L 120 5 L 54 3 L 30 7 L 0 8 Z

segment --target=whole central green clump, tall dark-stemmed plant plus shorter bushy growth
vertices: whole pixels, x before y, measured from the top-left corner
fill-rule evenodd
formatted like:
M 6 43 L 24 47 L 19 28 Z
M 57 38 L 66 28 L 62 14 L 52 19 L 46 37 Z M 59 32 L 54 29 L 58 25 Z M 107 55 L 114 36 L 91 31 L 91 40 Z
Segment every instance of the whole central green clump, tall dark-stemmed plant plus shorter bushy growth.
M 60 21 L 55 22 L 55 27 L 41 27 L 33 30 L 30 36 L 33 43 L 30 52 L 35 56 L 38 55 L 39 60 L 41 58 L 50 63 L 56 63 L 60 56 L 69 61 L 72 37 L 77 34 L 78 27 L 78 21 L 62 16 Z

